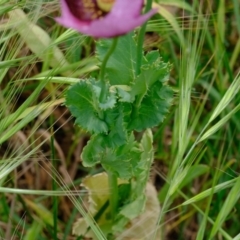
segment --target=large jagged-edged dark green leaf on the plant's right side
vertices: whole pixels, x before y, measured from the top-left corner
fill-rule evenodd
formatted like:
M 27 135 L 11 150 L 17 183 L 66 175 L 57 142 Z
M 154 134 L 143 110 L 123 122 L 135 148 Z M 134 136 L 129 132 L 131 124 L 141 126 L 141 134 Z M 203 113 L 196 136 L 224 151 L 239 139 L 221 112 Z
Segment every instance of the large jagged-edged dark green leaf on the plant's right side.
M 162 122 L 172 100 L 172 90 L 165 84 L 170 65 L 161 60 L 157 51 L 148 53 L 144 63 L 131 91 L 135 102 L 129 129 L 136 131 Z

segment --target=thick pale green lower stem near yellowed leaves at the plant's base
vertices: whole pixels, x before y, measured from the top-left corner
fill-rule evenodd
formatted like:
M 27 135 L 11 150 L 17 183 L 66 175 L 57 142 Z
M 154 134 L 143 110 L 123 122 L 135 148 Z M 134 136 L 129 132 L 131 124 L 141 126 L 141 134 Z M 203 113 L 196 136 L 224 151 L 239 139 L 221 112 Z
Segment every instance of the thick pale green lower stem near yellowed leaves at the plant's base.
M 118 184 L 115 173 L 108 172 L 108 184 L 110 189 L 111 218 L 114 221 L 118 207 Z

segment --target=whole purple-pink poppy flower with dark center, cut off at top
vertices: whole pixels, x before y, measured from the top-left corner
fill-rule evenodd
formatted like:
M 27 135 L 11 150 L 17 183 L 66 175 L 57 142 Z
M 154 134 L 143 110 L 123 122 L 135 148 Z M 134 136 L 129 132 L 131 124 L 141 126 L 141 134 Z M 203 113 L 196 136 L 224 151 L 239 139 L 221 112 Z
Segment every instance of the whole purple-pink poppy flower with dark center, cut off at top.
M 156 9 L 141 15 L 144 0 L 61 0 L 56 21 L 93 37 L 115 37 L 142 25 Z

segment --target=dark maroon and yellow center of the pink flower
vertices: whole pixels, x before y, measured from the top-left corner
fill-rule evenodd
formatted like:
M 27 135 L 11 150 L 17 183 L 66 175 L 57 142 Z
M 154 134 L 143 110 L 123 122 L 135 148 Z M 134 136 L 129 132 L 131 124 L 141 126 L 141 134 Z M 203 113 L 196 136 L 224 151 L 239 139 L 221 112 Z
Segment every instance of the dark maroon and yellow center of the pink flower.
M 76 18 L 92 21 L 110 12 L 115 0 L 66 0 L 66 3 Z

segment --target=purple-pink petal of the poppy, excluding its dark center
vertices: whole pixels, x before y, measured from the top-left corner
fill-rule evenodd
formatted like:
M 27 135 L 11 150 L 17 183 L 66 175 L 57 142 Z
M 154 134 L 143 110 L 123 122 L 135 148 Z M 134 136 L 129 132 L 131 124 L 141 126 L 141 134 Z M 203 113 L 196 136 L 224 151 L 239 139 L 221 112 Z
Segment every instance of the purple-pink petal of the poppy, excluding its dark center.
M 89 22 L 76 18 L 69 10 L 66 0 L 61 0 L 62 16 L 56 21 L 93 37 L 115 37 L 142 25 L 156 13 L 156 9 L 153 9 L 147 14 L 140 15 L 142 4 L 143 0 L 116 0 L 108 15 Z

